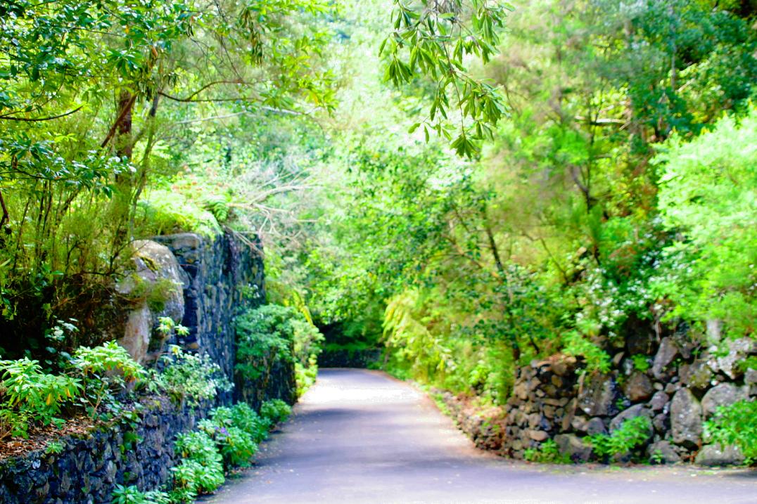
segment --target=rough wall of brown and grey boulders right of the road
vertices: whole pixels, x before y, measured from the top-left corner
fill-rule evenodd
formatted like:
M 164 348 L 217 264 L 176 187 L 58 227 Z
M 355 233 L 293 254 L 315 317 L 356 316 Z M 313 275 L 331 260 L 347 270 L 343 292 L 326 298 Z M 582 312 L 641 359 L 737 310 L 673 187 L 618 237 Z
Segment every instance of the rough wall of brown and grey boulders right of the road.
M 606 374 L 584 372 L 572 356 L 531 362 L 518 370 L 506 405 L 489 415 L 466 412 L 465 401 L 451 394 L 444 402 L 478 446 L 516 459 L 551 439 L 575 462 L 594 460 L 587 436 L 611 434 L 643 415 L 652 425 L 643 450 L 658 462 L 743 461 L 734 446 L 707 444 L 702 423 L 718 406 L 757 397 L 757 371 L 738 364 L 757 355 L 754 341 L 707 347 L 680 331 L 659 342 L 631 338 L 617 350 Z

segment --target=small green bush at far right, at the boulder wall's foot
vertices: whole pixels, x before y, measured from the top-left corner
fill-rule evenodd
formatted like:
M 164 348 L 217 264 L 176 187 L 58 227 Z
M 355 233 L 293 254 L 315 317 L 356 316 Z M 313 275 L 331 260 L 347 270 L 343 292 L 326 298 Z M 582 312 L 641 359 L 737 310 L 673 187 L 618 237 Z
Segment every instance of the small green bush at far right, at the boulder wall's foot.
M 736 445 L 747 465 L 757 463 L 757 401 L 741 400 L 731 406 L 720 406 L 704 427 L 706 439 L 721 446 Z

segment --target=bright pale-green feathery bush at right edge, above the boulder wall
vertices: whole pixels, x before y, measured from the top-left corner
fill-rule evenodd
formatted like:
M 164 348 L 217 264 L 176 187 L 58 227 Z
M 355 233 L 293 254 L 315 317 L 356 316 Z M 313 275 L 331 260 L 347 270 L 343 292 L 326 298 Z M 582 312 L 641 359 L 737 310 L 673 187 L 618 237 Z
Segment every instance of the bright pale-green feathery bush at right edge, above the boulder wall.
M 757 320 L 757 108 L 724 117 L 691 142 L 674 135 L 660 149 L 659 207 L 681 235 L 665 250 L 654 287 L 674 300 L 672 316 L 724 321 L 725 334 L 754 334 Z

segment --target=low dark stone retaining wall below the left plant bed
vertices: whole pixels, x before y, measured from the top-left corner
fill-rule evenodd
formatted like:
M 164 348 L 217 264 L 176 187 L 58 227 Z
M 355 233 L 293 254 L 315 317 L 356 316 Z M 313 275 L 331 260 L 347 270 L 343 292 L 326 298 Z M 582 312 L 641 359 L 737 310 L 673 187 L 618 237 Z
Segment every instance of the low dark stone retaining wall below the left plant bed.
M 165 399 L 145 400 L 136 426 L 104 425 L 83 437 L 58 439 L 61 453 L 45 450 L 0 463 L 3 504 L 106 504 L 116 484 L 157 488 L 176 464 L 176 434 L 195 427 L 210 404 L 188 409 Z

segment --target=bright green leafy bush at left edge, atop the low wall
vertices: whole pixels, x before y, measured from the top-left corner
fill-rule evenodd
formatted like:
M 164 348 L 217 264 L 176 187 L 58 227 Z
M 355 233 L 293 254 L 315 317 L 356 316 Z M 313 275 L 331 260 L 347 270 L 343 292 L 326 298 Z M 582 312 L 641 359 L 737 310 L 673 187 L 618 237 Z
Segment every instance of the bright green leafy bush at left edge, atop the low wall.
M 36 422 L 49 425 L 61 407 L 78 396 L 81 381 L 66 375 L 48 375 L 36 360 L 26 357 L 0 361 L 0 439 L 28 437 Z

